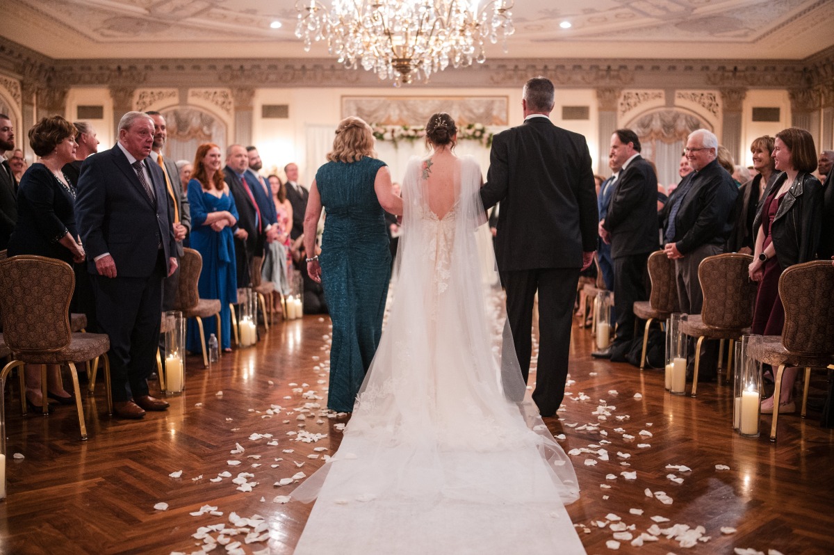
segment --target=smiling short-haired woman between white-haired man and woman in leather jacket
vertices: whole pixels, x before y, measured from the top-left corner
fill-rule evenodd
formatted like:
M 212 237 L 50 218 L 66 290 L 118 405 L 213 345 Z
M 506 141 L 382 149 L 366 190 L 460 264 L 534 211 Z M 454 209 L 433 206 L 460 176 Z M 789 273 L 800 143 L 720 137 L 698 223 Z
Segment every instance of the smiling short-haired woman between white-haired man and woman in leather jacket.
M 770 135 L 753 139 L 750 151 L 753 154 L 753 169 L 756 169 L 758 174 L 738 189 L 734 209 L 736 227 L 732 230 L 726 245 L 727 252 L 739 252 L 743 255 L 753 253 L 758 233 L 758 230 L 753 229 L 753 221 L 761 209 L 765 192 L 779 175 L 773 166 L 773 138 Z

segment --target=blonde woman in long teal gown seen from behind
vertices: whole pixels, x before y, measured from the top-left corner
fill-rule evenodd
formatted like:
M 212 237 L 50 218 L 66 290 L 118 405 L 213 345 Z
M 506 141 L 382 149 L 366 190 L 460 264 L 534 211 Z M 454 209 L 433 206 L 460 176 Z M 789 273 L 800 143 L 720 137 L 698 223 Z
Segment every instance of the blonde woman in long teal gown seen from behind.
M 391 277 L 384 213 L 403 214 L 388 166 L 375 155 L 369 125 L 359 118 L 343 119 L 329 161 L 310 185 L 304 214 L 307 271 L 324 286 L 333 320 L 327 406 L 339 412 L 353 411 L 382 335 Z M 314 255 L 323 208 L 321 254 Z

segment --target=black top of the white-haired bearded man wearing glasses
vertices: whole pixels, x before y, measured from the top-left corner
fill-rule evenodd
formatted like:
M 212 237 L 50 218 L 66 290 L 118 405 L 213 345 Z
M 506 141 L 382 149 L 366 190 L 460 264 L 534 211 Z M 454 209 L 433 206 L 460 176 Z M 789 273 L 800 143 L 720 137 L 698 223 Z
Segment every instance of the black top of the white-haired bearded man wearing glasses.
M 691 179 L 691 184 L 675 218 L 673 240 L 677 250 L 686 255 L 701 245 L 723 246 L 736 224 L 732 218 L 738 196 L 736 182 L 726 169 L 721 168 L 717 159 L 685 179 Z M 668 219 L 681 194 L 682 184 L 683 181 L 661 211 L 661 220 Z

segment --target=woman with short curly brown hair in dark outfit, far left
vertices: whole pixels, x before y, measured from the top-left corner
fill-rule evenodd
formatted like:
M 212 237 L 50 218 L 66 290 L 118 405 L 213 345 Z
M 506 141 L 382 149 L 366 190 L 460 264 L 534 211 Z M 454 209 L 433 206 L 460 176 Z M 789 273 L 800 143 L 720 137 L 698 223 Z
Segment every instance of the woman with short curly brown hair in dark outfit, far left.
M 8 240 L 8 255 L 38 255 L 82 262 L 84 248 L 75 225 L 75 188 L 61 169 L 75 159 L 75 128 L 61 116 L 41 119 L 29 129 L 29 144 L 40 157 L 32 164 L 18 189 L 18 223 Z M 26 402 L 35 411 L 43 408 L 41 374 L 26 366 Z M 73 396 L 63 388 L 61 368 L 49 365 L 48 397 L 72 405 Z

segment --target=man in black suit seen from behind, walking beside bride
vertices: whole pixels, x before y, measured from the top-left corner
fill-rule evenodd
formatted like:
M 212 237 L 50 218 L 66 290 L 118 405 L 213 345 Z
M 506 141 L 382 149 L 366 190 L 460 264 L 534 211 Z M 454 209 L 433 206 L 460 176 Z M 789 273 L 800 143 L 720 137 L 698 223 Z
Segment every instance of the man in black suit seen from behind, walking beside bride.
M 515 352 L 525 381 L 530 324 L 539 292 L 539 364 L 533 400 L 554 416 L 565 396 L 570 324 L 580 270 L 596 249 L 594 173 L 585 137 L 550 123 L 549 79 L 525 83 L 525 123 L 495 135 L 481 202 L 501 203 L 496 259 L 507 292 Z

